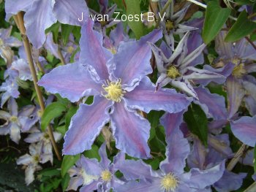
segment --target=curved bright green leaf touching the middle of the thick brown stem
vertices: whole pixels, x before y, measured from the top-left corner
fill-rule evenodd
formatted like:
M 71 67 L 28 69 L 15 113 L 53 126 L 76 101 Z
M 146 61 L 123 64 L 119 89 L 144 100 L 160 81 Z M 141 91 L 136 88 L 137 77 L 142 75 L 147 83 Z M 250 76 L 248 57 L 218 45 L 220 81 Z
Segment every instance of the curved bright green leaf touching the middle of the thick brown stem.
M 66 111 L 66 106 L 61 102 L 53 102 L 52 104 L 49 104 L 48 107 L 45 108 L 44 113 L 42 114 L 42 131 L 45 131 L 51 120 L 59 118 L 59 116 L 61 116 L 64 111 Z

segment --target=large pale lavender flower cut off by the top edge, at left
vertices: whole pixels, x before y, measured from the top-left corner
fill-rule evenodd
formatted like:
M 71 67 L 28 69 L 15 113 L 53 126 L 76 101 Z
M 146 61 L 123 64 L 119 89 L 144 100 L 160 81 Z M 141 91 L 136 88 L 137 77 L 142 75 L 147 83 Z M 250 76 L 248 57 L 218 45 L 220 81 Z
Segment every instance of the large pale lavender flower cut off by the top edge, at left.
M 57 20 L 64 24 L 80 26 L 78 18 L 82 12 L 89 17 L 89 10 L 83 0 L 7 0 L 5 2 L 7 20 L 11 15 L 16 15 L 20 11 L 26 12 L 24 23 L 29 41 L 35 48 L 39 49 L 45 42 L 45 29 L 56 23 Z

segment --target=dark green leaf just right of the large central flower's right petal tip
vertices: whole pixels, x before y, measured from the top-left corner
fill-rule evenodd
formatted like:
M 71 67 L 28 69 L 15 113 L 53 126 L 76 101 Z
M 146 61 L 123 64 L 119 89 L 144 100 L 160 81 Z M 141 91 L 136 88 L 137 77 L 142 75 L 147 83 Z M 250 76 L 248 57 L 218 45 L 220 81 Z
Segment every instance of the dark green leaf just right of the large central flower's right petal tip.
M 189 110 L 184 113 L 184 120 L 187 123 L 189 131 L 203 142 L 203 145 L 207 147 L 208 140 L 208 120 L 205 112 L 197 104 L 191 104 Z

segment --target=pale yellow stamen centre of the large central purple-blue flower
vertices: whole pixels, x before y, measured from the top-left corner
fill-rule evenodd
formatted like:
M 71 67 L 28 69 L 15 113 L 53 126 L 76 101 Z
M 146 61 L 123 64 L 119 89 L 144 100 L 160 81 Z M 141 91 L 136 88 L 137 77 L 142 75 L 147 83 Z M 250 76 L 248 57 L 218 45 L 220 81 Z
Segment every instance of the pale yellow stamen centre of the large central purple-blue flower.
M 118 82 L 107 82 L 108 85 L 102 85 L 102 88 L 104 88 L 108 93 L 105 95 L 105 98 L 115 102 L 120 102 L 125 93 L 121 88 L 121 80 L 118 80 Z

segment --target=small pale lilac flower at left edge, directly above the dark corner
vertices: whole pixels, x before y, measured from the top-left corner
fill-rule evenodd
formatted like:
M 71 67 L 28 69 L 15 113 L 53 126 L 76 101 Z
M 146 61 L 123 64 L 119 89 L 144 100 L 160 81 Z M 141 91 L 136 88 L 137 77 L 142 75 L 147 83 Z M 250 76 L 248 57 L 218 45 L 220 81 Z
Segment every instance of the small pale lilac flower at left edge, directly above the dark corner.
M 27 122 L 29 121 L 31 111 L 34 110 L 34 106 L 29 105 L 23 107 L 23 109 L 18 112 L 18 105 L 15 99 L 11 98 L 8 101 L 8 110 L 10 113 L 0 111 L 0 118 L 6 121 L 4 125 L 0 126 L 0 134 L 10 134 L 12 141 L 18 143 L 20 140 L 20 129 L 25 125 L 30 127 L 34 125 Z

